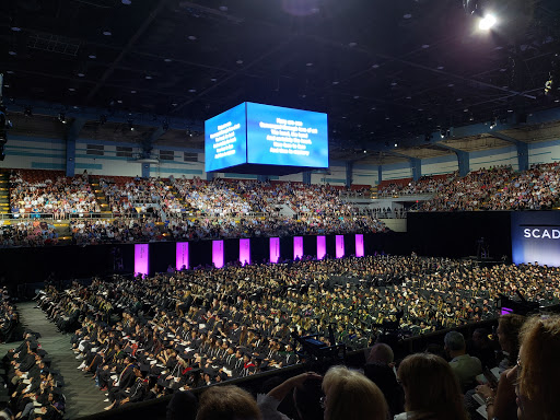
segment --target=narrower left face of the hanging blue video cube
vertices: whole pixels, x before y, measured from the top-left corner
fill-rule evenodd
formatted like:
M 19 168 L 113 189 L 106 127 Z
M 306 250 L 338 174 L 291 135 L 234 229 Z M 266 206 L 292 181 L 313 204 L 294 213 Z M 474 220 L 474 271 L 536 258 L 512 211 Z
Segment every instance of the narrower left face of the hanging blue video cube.
M 245 103 L 205 122 L 205 171 L 212 172 L 247 162 Z

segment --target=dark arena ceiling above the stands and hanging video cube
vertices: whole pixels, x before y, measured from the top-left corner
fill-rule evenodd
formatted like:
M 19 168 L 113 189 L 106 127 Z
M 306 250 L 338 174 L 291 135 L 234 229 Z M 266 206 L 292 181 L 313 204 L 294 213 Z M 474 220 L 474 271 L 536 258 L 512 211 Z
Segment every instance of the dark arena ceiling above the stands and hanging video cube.
M 493 32 L 460 0 L 2 0 L 4 98 L 198 121 L 245 101 L 326 112 L 339 155 L 558 106 L 560 1 L 478 3 Z

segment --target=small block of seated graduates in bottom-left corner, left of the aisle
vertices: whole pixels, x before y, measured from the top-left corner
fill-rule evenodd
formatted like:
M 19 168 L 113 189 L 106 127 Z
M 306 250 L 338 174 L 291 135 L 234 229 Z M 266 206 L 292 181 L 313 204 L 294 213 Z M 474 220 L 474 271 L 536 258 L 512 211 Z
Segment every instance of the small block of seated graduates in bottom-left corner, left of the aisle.
M 59 420 L 65 412 L 63 378 L 51 366 L 37 336 L 26 330 L 23 342 L 2 359 L 10 392 L 9 408 L 18 419 Z

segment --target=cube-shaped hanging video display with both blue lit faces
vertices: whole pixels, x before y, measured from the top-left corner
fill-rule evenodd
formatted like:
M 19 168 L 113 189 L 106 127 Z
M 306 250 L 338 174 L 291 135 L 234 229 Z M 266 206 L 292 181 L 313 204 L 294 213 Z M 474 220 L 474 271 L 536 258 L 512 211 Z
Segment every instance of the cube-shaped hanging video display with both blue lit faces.
M 205 151 L 206 172 L 328 167 L 327 114 L 246 102 L 206 121 Z

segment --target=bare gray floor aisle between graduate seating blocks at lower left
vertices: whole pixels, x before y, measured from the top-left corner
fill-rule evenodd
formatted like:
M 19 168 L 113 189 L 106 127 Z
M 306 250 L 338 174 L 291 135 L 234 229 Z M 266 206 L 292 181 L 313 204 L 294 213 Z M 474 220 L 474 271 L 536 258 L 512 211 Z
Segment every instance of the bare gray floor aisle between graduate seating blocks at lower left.
M 40 346 L 52 359 L 54 369 L 65 377 L 66 419 L 73 420 L 103 411 L 108 405 L 103 401 L 105 394 L 95 386 L 93 377 L 85 377 L 78 370 L 81 361 L 75 360 L 74 352 L 70 350 L 70 335 L 58 332 L 45 313 L 34 306 L 35 302 L 25 302 L 19 304 L 18 310 L 24 326 L 42 335 L 38 340 Z M 13 347 L 14 343 L 10 346 Z

